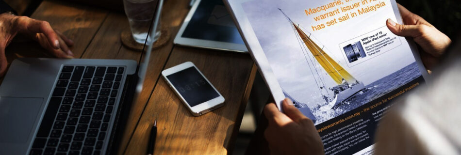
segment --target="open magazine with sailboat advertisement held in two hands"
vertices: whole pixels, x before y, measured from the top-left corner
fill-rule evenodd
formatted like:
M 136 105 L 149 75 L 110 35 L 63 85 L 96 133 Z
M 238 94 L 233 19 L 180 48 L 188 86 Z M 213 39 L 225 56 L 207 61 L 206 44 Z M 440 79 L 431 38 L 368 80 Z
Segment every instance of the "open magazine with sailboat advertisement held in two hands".
M 327 155 L 371 154 L 381 116 L 425 83 L 395 0 L 224 0 L 281 109 L 313 120 Z

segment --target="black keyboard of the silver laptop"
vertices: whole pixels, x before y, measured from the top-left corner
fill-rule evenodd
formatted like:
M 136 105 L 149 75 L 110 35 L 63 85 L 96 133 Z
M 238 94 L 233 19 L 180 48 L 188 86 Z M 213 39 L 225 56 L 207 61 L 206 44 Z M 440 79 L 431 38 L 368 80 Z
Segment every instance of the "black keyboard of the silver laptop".
M 64 66 L 30 155 L 99 155 L 124 67 Z

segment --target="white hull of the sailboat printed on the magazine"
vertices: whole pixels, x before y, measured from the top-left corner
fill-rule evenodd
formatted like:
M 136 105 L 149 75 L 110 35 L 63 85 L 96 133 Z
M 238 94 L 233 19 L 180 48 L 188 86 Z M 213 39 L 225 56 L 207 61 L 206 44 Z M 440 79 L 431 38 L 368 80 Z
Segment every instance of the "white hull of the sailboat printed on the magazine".
M 343 101 L 349 99 L 352 95 L 359 93 L 365 88 L 362 82 L 348 88 L 338 94 L 335 95 L 334 99 L 326 106 L 322 107 L 322 109 L 333 109 L 335 106 L 341 104 Z

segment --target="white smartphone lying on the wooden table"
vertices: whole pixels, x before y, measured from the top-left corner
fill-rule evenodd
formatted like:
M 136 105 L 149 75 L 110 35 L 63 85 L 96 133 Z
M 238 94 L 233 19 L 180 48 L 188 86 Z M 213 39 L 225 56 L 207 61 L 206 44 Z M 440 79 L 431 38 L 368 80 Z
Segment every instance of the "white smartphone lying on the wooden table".
M 192 62 L 165 69 L 162 77 L 194 116 L 224 105 L 224 97 Z

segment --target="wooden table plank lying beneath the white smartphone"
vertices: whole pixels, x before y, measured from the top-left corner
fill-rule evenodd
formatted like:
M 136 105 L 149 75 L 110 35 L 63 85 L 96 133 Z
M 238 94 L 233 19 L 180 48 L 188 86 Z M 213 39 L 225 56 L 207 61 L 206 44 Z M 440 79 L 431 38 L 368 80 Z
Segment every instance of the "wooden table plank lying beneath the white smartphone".
M 146 154 L 150 125 L 158 124 L 155 154 L 226 154 L 237 134 L 256 73 L 248 54 L 175 47 L 166 67 L 194 62 L 226 99 L 225 106 L 193 116 L 160 79 L 141 117 L 126 155 Z M 250 80 L 251 79 L 251 80 Z

